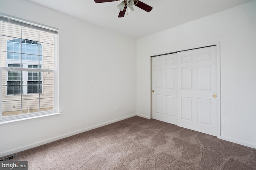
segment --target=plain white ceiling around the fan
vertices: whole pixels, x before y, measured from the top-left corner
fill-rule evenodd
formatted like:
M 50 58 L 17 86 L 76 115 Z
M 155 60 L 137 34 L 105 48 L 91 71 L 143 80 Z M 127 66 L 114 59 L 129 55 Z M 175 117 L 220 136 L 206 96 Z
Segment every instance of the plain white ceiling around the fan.
M 28 1 L 137 39 L 252 0 L 140 0 L 152 6 L 152 11 L 134 6 L 134 11 L 123 18 L 118 18 L 117 5 L 121 1 L 98 4 L 94 0 Z

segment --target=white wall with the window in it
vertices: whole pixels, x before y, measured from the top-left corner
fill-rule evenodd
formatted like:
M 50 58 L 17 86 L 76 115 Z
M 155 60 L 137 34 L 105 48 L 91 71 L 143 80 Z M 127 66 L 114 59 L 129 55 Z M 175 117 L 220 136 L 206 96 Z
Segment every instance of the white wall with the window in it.
M 0 125 L 0 157 L 136 115 L 135 39 L 24 0 L 0 12 L 59 29 L 61 112 Z

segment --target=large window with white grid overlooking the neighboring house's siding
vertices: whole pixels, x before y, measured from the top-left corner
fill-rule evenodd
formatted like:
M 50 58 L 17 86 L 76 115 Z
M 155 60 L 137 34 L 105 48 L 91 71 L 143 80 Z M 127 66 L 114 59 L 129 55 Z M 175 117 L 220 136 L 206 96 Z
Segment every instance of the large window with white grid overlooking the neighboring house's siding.
M 0 123 L 58 113 L 58 29 L 0 14 Z

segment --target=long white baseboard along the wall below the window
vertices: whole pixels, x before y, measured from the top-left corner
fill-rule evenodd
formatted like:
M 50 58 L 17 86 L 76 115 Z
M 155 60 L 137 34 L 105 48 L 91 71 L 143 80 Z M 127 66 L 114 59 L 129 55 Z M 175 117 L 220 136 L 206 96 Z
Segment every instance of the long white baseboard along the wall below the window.
M 57 140 L 66 138 L 66 137 L 70 137 L 72 135 L 76 135 L 76 134 L 79 134 L 79 133 L 90 131 L 92 129 L 96 129 L 98 127 L 102 127 L 102 126 L 105 126 L 105 125 L 109 125 L 111 123 L 115 123 L 115 122 L 118 122 L 118 121 L 121 121 L 121 120 L 124 120 L 124 119 L 128 119 L 128 118 L 134 117 L 134 116 L 136 116 L 136 114 L 129 115 L 129 116 L 126 116 L 126 117 L 121 117 L 119 119 L 115 119 L 115 120 L 108 121 L 108 122 L 105 122 L 105 123 L 101 123 L 101 124 L 98 124 L 98 125 L 95 125 L 95 126 L 87 127 L 85 129 L 80 129 L 78 131 L 74 131 L 74 132 L 71 132 L 71 133 L 66 133 L 66 134 L 63 134 L 63 135 L 59 135 L 59 136 L 56 136 L 56 137 L 52 137 L 52 138 L 49 138 L 49 139 L 38 141 L 36 143 L 31 143 L 29 145 L 25 145 L 25 146 L 18 147 L 18 148 L 15 148 L 15 149 L 10 149 L 10 150 L 4 151 L 4 152 L 0 152 L 0 158 L 4 157 L 4 156 L 7 156 L 7 155 L 10 155 L 10 154 L 21 152 L 23 150 L 27 150 L 27 149 L 31 149 L 31 148 L 34 148 L 34 147 L 38 147 L 38 146 L 44 145 L 46 143 L 50 143 L 50 142 L 53 142 L 53 141 L 57 141 Z

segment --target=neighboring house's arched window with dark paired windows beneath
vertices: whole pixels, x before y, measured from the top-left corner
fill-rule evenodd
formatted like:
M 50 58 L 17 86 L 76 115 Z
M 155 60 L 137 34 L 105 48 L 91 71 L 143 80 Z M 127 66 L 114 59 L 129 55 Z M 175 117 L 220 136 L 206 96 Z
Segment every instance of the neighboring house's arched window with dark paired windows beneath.
M 8 40 L 6 64 L 8 67 L 41 69 L 42 45 L 29 39 Z M 41 85 L 42 72 L 8 72 L 7 95 L 42 93 Z

